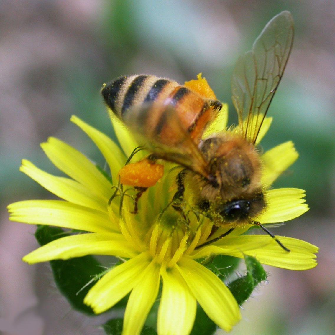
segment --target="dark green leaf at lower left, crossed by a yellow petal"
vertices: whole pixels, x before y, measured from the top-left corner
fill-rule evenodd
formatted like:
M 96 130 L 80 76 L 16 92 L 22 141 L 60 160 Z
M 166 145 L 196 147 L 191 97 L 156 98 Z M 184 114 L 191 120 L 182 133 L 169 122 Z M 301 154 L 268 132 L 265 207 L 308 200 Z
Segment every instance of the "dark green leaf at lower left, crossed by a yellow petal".
M 39 226 L 35 238 L 43 246 L 51 241 L 68 236 L 59 227 Z M 54 280 L 60 292 L 67 298 L 73 309 L 88 315 L 94 315 L 93 310 L 83 303 L 88 290 L 94 285 L 92 281 L 101 273 L 100 263 L 93 256 L 72 258 L 66 261 L 53 260 L 49 262 Z M 87 286 L 85 286 L 87 285 Z

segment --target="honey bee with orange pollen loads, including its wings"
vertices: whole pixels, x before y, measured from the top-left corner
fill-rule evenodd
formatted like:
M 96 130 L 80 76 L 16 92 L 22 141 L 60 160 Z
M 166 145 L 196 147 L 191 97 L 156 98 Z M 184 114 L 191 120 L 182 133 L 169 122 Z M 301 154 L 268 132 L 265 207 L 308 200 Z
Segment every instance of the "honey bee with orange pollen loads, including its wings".
M 197 211 L 211 219 L 214 226 L 228 229 L 219 238 L 236 227 L 256 224 L 289 251 L 253 218 L 267 207 L 256 142 L 282 78 L 292 42 L 293 19 L 288 11 L 283 11 L 268 22 L 252 50 L 238 59 L 231 83 L 238 131 L 222 129 L 203 138 L 222 109 L 203 78 L 180 85 L 153 75 L 133 75 L 103 86 L 101 92 L 107 107 L 126 126 L 142 135 L 146 148 L 152 152 L 144 161 L 132 163 L 145 163 L 149 168 L 142 169 L 138 165 L 136 170 L 128 164 L 119 174 L 121 183 L 139 190 L 135 206 L 142 192 L 162 177 L 158 173 L 146 183 L 146 175 L 159 170 L 156 160 L 174 162 L 183 167 L 177 175 L 177 191 L 172 201 L 176 210 L 180 210 L 187 185 L 194 194 Z M 129 177 L 130 170 L 132 177 Z

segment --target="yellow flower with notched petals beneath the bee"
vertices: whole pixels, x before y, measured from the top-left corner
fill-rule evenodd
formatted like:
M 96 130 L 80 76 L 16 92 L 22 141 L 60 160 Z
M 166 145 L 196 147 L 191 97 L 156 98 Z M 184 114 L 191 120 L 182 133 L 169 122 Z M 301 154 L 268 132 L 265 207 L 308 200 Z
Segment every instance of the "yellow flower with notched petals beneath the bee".
M 226 122 L 227 106 L 220 120 L 209 131 L 216 131 L 218 124 Z M 105 134 L 72 117 L 95 142 L 106 159 L 112 181 L 127 157 L 137 146 L 131 134 L 113 119 L 116 135 L 122 150 Z M 266 119 L 261 138 L 269 128 Z M 50 138 L 43 143 L 52 163 L 70 178 L 55 177 L 27 160 L 22 161 L 20 171 L 40 183 L 63 200 L 28 200 L 8 206 L 10 219 L 30 224 L 54 225 L 86 231 L 57 239 L 26 255 L 29 264 L 54 259 L 69 259 L 88 254 L 112 255 L 125 260 L 107 272 L 88 292 L 85 304 L 95 313 L 102 313 L 114 306 L 129 292 L 125 309 L 122 334 L 136 335 L 141 332 L 148 313 L 157 298 L 160 281 L 162 295 L 157 317 L 157 332 L 187 335 L 196 316 L 197 302 L 206 314 L 221 328 L 229 331 L 240 319 L 239 307 L 227 286 L 197 259 L 212 254 L 243 258 L 256 257 L 261 263 L 292 270 L 310 269 L 316 266 L 317 247 L 297 239 L 278 237 L 291 250 L 286 252 L 267 235 L 241 235 L 248 227 L 236 228 L 225 238 L 199 249 L 212 231 L 209 219 L 198 219 L 189 213 L 189 222 L 176 211 L 167 207 L 171 199 L 169 188 L 174 184 L 175 173 L 166 173 L 155 187 L 142 196 L 139 213 L 131 214 L 133 204 L 126 196 L 114 193 L 111 181 L 83 154 Z M 135 158 L 143 157 L 138 152 Z M 264 178 L 266 185 L 272 182 L 297 158 L 291 142 L 283 143 L 264 153 Z M 115 185 L 114 185 L 115 186 Z M 120 215 L 119 196 L 123 195 Z M 302 190 L 273 189 L 265 193 L 268 209 L 255 220 L 261 223 L 282 222 L 303 214 Z M 224 232 L 218 229 L 215 236 Z

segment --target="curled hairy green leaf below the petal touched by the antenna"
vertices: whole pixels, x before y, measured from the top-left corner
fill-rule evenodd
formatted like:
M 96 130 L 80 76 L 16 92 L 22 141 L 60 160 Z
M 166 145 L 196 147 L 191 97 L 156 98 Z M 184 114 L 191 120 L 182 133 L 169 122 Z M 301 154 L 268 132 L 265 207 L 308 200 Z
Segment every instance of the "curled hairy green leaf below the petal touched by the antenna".
M 260 262 L 254 257 L 245 256 L 247 274 L 229 283 L 227 286 L 233 293 L 238 305 L 242 305 L 254 288 L 267 279 L 267 274 Z

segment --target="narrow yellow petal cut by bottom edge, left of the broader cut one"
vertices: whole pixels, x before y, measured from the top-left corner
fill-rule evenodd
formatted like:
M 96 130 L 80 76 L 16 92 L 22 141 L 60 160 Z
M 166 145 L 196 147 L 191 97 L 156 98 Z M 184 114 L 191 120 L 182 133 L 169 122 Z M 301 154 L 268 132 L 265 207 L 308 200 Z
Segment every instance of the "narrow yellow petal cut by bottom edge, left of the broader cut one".
M 139 276 L 124 312 L 122 335 L 139 335 L 159 289 L 160 266 L 151 262 Z

